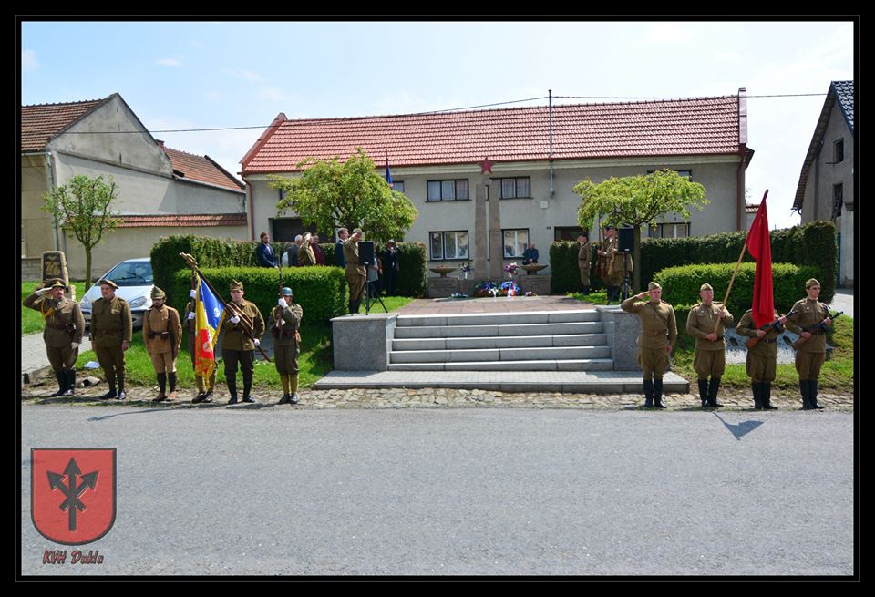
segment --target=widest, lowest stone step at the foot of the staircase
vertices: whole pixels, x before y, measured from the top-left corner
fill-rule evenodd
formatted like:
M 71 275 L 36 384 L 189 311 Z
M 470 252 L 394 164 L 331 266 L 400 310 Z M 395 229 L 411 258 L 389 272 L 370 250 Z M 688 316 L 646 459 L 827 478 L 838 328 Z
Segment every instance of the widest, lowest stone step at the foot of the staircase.
M 332 371 L 314 389 L 356 387 L 448 387 L 499 392 L 562 392 L 566 394 L 641 394 L 640 371 Z M 665 374 L 665 394 L 688 393 L 690 384 Z

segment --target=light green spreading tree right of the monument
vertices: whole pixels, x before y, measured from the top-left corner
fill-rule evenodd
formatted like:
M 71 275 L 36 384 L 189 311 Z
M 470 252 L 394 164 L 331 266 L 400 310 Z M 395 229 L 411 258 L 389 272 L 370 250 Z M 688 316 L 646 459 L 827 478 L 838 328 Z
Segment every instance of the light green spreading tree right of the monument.
M 598 217 L 602 225 L 631 225 L 634 228 L 633 288 L 641 288 L 641 227 L 654 224 L 656 218 L 674 213 L 689 219 L 690 206 L 705 209 L 705 187 L 687 180 L 674 170 L 657 170 L 652 174 L 610 178 L 595 184 L 589 178 L 577 183 L 574 192 L 582 197 L 577 221 L 583 230 L 592 228 Z

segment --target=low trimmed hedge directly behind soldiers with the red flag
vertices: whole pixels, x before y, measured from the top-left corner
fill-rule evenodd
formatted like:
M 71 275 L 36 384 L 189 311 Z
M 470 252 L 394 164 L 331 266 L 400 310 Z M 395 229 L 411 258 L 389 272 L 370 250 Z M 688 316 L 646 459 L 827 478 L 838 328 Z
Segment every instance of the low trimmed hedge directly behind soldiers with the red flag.
M 735 263 L 705 263 L 668 267 L 657 272 L 654 275 L 654 280 L 662 285 L 663 300 L 666 303 L 678 305 L 699 303 L 701 300 L 699 288 L 703 283 L 711 284 L 714 287 L 714 300 L 722 302 L 735 268 Z M 729 294 L 729 300 L 726 304 L 726 308 L 729 309 L 729 313 L 735 316 L 736 321 L 741 319 L 741 315 L 750 308 L 754 296 L 756 269 L 756 263 L 742 263 L 738 268 L 738 275 L 736 275 L 736 281 L 732 285 L 732 292 Z M 816 268 L 813 265 L 772 264 L 772 288 L 777 311 L 786 314 L 794 303 L 805 296 L 805 281 L 814 273 L 816 273 Z M 687 307 L 688 311 L 689 307 Z

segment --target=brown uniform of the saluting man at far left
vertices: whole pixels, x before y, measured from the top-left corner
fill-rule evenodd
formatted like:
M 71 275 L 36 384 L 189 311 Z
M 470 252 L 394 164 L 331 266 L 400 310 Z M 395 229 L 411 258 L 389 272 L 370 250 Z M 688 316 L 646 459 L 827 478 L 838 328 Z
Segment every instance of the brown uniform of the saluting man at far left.
M 56 301 L 50 294 L 40 296 L 33 293 L 23 304 L 43 315 L 43 321 L 46 322 L 43 341 L 46 343 L 46 355 L 52 368 L 56 371 L 73 369 L 79 349 L 73 348 L 72 344 L 82 343 L 85 317 L 76 301 L 71 301 L 66 296 Z

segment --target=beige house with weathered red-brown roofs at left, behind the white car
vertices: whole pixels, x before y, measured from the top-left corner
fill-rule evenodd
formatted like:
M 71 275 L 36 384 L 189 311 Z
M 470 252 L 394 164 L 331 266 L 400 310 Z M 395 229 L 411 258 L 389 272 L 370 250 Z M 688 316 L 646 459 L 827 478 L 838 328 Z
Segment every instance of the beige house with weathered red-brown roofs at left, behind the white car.
M 93 251 L 92 275 L 149 255 L 169 234 L 248 240 L 243 184 L 209 156 L 164 146 L 118 93 L 108 98 L 21 110 L 22 276 L 39 277 L 44 251 L 67 254 L 70 275 L 85 274 L 85 252 L 40 207 L 73 177 L 112 176 L 121 223 Z

